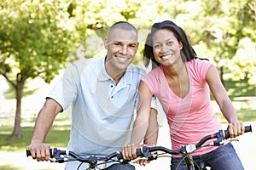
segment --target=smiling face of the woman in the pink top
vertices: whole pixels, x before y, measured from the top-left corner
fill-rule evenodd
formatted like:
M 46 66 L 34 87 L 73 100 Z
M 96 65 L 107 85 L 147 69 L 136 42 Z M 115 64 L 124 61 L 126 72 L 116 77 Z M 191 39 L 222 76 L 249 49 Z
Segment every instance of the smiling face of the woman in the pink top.
M 160 65 L 170 66 L 182 60 L 180 50 L 182 42 L 177 41 L 174 33 L 167 29 L 156 31 L 152 37 L 154 59 Z

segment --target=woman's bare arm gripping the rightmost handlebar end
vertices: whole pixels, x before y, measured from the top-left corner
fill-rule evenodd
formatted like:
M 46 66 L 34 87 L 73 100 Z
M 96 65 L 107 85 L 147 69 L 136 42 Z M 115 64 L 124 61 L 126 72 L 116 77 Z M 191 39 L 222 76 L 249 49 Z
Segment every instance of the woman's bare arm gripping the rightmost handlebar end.
M 220 111 L 223 113 L 225 119 L 229 122 L 230 137 L 244 133 L 244 127 L 241 122 L 238 122 L 236 110 L 232 105 L 231 100 L 220 81 L 217 69 L 211 65 L 207 71 L 207 83 L 211 89 L 214 99 L 217 101 Z

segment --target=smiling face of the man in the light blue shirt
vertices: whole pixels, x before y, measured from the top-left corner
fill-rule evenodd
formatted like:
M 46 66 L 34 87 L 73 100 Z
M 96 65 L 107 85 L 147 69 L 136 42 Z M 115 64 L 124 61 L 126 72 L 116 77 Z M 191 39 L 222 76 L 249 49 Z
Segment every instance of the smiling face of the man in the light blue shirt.
M 109 62 L 108 64 L 117 71 L 125 71 L 137 53 L 137 33 L 136 31 L 114 29 L 109 32 L 104 45 L 108 50 L 106 62 Z

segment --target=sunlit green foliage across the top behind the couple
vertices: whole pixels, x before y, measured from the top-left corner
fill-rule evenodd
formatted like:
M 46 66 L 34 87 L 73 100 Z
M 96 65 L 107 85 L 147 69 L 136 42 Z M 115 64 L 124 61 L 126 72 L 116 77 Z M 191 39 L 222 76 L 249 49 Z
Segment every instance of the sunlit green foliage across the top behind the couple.
M 186 31 L 199 57 L 218 68 L 228 64 L 234 81 L 247 79 L 255 87 L 255 7 L 254 0 L 3 0 L 0 75 L 22 97 L 27 80 L 42 77 L 50 82 L 67 62 L 105 55 L 102 40 L 119 20 L 137 27 L 140 47 L 133 64 L 142 65 L 150 26 L 173 20 Z

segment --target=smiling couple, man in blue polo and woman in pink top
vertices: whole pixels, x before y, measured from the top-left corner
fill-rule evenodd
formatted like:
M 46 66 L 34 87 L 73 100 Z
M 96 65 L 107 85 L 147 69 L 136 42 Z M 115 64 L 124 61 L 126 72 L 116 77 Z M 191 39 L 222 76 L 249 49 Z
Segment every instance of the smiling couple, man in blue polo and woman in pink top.
M 39 111 L 28 146 L 34 159 L 49 160 L 50 146 L 44 140 L 55 116 L 69 106 L 73 112 L 67 150 L 81 156 L 106 156 L 122 150 L 125 158 L 131 159 L 142 141 L 155 145 L 158 136 L 155 98 L 166 113 L 172 149 L 197 143 L 201 137 L 221 128 L 212 111 L 210 90 L 229 122 L 230 136 L 244 133 L 222 83 L 216 78 L 218 71 L 211 62 L 197 58 L 182 28 L 168 20 L 152 26 L 143 52 L 145 65 L 150 60 L 155 64 L 148 74 L 131 65 L 138 45 L 137 29 L 120 21 L 110 27 L 104 40 L 105 57 L 84 59 L 67 67 Z M 135 122 L 134 111 L 137 111 Z M 243 169 L 231 144 L 199 150 L 195 157 L 213 169 L 234 169 L 233 166 Z M 171 168 L 175 169 L 179 159 L 172 157 Z M 78 161 L 67 162 L 66 169 L 77 167 Z M 82 164 L 81 168 L 86 167 Z M 106 169 L 135 167 L 112 164 Z

